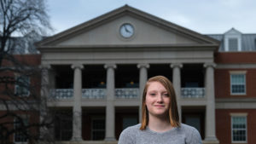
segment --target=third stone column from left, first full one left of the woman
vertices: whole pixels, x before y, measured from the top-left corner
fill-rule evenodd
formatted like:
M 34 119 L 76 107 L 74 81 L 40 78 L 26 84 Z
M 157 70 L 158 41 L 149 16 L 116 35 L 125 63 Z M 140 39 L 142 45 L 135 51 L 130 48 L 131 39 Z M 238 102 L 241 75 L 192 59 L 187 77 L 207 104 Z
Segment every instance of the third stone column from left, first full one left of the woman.
M 107 106 L 106 106 L 106 134 L 105 141 L 115 141 L 114 136 L 114 69 L 116 65 L 107 64 Z

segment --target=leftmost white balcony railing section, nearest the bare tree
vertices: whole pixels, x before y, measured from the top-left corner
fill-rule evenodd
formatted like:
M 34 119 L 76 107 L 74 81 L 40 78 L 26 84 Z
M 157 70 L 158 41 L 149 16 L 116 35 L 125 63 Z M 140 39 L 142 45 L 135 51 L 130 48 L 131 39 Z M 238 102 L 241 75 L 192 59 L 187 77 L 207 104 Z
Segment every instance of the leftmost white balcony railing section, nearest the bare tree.
M 49 89 L 49 96 L 55 99 L 70 99 L 73 97 L 73 89 Z

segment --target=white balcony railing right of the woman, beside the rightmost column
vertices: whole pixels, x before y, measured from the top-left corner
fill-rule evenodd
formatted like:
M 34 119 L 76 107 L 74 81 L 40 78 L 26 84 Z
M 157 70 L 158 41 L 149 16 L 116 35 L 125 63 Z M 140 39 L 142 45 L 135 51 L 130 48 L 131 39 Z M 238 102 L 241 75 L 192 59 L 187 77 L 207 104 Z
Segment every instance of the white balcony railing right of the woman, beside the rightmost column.
M 203 98 L 205 97 L 205 88 L 182 88 L 181 96 L 183 98 Z

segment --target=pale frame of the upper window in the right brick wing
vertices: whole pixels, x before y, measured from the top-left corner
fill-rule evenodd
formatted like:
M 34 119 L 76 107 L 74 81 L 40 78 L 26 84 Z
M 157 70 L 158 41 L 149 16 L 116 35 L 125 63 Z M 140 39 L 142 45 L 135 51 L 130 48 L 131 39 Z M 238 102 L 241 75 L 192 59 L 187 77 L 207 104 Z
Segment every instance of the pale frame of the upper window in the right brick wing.
M 244 76 L 244 92 L 234 93 L 232 90 L 232 75 L 243 75 Z M 230 71 L 230 95 L 247 95 L 247 71 Z

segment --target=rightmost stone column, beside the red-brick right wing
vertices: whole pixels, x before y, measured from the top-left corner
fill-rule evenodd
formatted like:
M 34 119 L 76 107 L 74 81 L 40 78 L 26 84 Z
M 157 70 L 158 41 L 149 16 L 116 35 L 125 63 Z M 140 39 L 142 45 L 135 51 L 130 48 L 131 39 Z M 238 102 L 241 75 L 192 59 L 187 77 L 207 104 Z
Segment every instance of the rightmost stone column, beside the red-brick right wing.
M 206 138 L 205 141 L 218 143 L 215 131 L 215 94 L 214 94 L 214 63 L 204 64 L 206 67 L 205 87 L 207 96 Z

